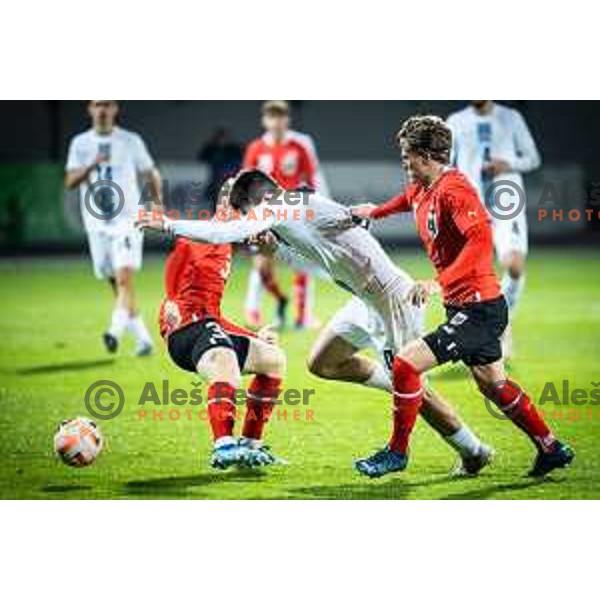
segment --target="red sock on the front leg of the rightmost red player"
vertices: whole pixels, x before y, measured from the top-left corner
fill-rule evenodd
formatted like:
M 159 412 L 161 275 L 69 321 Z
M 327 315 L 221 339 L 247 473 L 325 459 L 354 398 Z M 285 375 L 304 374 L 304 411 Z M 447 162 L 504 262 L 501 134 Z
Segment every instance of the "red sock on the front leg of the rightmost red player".
M 390 438 L 390 450 L 408 450 L 408 440 L 415 426 L 423 403 L 421 375 L 411 363 L 396 356 L 392 369 L 394 384 L 394 428 Z

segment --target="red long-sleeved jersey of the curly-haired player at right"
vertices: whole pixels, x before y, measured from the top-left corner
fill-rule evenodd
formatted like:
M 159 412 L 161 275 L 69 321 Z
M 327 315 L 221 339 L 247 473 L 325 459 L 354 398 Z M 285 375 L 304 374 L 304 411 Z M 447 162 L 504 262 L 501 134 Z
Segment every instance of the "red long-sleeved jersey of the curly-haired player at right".
M 409 185 L 371 216 L 380 219 L 410 210 L 446 304 L 481 302 L 500 295 L 490 219 L 475 188 L 460 171 L 448 169 L 430 187 Z

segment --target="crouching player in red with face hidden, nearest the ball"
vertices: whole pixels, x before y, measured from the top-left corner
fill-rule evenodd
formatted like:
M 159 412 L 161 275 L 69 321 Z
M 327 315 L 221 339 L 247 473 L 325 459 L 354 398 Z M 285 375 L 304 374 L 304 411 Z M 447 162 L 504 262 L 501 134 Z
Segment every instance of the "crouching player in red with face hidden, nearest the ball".
M 262 443 L 265 423 L 281 391 L 285 355 L 266 328 L 247 331 L 221 314 L 231 269 L 231 245 L 176 238 L 165 268 L 160 331 L 173 362 L 207 380 L 207 413 L 214 437 L 211 466 L 266 466 L 282 462 Z M 233 429 L 241 375 L 254 379 L 245 395 L 242 437 Z

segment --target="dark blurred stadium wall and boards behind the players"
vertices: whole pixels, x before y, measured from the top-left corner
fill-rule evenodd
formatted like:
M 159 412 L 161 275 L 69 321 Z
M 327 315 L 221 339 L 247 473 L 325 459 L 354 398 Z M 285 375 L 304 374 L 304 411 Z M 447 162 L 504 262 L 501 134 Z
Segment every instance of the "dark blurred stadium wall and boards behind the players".
M 414 113 L 447 116 L 465 102 L 292 101 L 293 127 L 315 138 L 334 197 L 379 201 L 402 185 L 394 147 L 401 121 Z M 592 207 L 585 196 L 600 187 L 600 103 L 507 103 L 522 112 L 542 154 L 542 168 L 526 176 L 531 241 L 597 243 L 597 216 L 573 222 L 566 211 Z M 0 106 L 0 252 L 80 252 L 77 192 L 66 194 L 62 177 L 70 137 L 89 127 L 84 102 L 5 101 Z M 242 146 L 255 137 L 259 110 L 260 101 L 123 101 L 120 122 L 144 137 L 172 190 L 186 181 L 207 180 L 197 154 L 217 128 L 226 128 Z M 549 205 L 565 209 L 562 221 L 537 219 L 537 202 L 548 185 L 561 194 L 568 185 L 575 196 Z M 401 220 L 386 223 L 379 235 L 387 243 L 416 243 L 411 224 Z

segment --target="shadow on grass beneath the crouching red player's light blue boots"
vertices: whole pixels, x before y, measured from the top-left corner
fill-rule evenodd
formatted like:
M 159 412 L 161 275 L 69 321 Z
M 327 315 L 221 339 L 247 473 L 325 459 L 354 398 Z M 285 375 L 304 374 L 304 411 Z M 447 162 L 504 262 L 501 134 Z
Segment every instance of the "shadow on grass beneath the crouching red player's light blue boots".
M 215 483 L 258 481 L 265 477 L 261 471 L 227 471 L 225 473 L 202 473 L 184 477 L 161 477 L 128 481 L 125 493 L 138 496 L 179 496 L 189 488 L 205 487 Z

